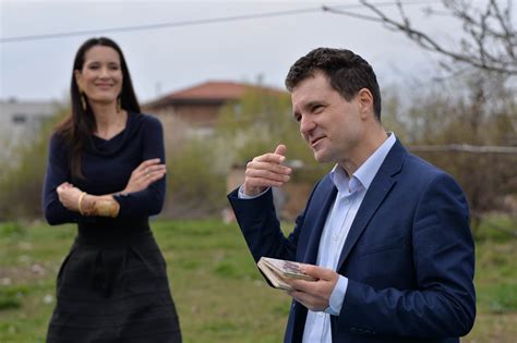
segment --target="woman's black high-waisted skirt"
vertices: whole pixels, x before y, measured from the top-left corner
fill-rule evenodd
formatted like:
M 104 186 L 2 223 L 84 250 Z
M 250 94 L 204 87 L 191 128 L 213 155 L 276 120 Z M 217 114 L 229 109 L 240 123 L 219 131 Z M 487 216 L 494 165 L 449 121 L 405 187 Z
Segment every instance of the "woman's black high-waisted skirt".
M 47 342 L 181 342 L 166 262 L 148 226 L 117 238 L 81 231 L 58 273 Z

